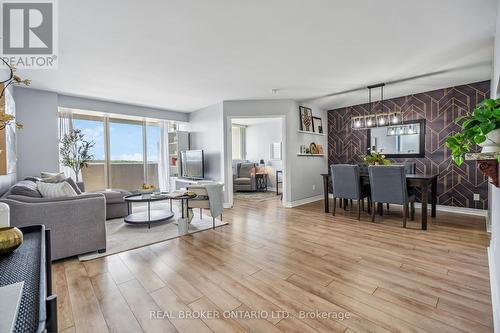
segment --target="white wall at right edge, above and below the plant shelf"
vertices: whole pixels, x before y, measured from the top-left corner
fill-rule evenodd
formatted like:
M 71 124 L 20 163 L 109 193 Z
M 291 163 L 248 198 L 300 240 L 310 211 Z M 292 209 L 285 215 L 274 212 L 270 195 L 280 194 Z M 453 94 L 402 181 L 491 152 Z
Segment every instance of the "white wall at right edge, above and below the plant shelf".
M 495 36 L 495 54 L 493 77 L 491 79 L 492 98 L 500 98 L 498 82 L 500 80 L 500 0 L 497 0 L 497 28 Z M 500 169 L 500 168 L 499 168 Z M 490 185 L 490 223 L 491 243 L 489 248 L 491 298 L 495 332 L 500 332 L 500 188 Z

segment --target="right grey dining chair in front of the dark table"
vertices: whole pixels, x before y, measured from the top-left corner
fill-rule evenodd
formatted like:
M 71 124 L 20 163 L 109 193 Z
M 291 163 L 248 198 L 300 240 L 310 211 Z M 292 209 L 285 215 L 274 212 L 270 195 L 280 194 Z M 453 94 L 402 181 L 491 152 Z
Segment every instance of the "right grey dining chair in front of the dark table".
M 406 185 L 406 172 L 404 165 L 370 165 L 372 222 L 375 222 L 377 203 L 392 203 L 403 206 L 403 227 L 406 228 L 408 211 L 410 218 L 415 218 L 415 195 L 408 193 Z M 410 209 L 408 207 L 410 205 Z

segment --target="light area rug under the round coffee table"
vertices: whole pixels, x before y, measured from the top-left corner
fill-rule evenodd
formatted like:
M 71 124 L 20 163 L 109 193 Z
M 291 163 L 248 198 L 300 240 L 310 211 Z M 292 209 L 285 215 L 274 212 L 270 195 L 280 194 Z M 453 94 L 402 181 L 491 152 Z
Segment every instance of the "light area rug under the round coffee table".
M 167 206 L 162 208 L 168 209 Z M 134 206 L 134 212 L 143 211 L 145 209 L 144 206 Z M 176 213 L 172 219 L 162 223 L 151 224 L 151 229 L 148 229 L 147 225 L 131 225 L 125 223 L 123 218 L 106 221 L 106 252 L 86 253 L 79 255 L 78 259 L 80 261 L 92 260 L 181 237 L 176 223 L 179 214 L 175 207 L 174 211 L 176 211 Z M 194 212 L 195 217 L 189 225 L 189 234 L 212 229 L 212 217 L 203 215 L 203 219 L 200 219 L 198 210 L 195 209 Z M 215 220 L 216 228 L 227 224 L 227 222 L 222 222 L 220 219 Z

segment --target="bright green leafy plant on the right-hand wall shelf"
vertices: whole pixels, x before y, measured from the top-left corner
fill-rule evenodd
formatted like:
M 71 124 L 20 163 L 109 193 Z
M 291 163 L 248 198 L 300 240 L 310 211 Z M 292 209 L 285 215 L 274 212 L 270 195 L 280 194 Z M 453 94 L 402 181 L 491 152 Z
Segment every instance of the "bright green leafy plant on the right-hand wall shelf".
M 472 113 L 458 117 L 455 123 L 461 124 L 461 131 L 449 136 L 446 146 L 451 149 L 453 161 L 460 166 L 465 161 L 465 154 L 476 144 L 485 142 L 488 133 L 500 128 L 500 98 L 485 99 Z M 500 154 L 496 157 L 500 162 Z

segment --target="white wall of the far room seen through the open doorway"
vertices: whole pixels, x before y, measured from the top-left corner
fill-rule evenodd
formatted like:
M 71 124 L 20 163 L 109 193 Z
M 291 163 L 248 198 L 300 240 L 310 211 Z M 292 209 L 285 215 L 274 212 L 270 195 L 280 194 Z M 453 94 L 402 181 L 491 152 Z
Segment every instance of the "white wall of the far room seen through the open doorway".
M 238 119 L 234 120 L 238 123 Z M 282 119 L 269 118 L 246 127 L 245 151 L 246 159 L 259 163 L 264 160 L 267 167 L 268 187 L 276 187 L 276 170 L 283 169 L 282 160 L 271 160 L 271 144 L 282 142 Z

